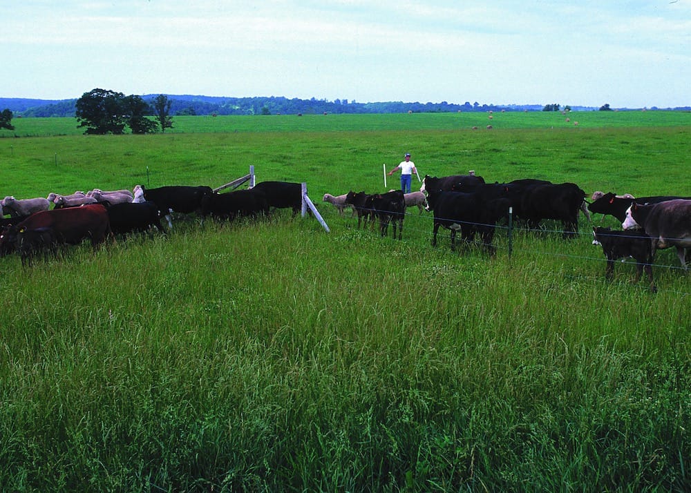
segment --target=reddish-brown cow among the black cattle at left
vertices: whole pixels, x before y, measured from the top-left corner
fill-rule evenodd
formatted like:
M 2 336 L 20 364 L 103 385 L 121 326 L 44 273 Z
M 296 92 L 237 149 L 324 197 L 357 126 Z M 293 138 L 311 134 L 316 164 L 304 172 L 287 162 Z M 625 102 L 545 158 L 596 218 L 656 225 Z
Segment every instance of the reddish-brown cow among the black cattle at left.
M 101 204 L 39 211 L 10 226 L 15 231 L 41 228 L 53 229 L 60 244 L 79 244 L 88 238 L 94 249 L 111 235 L 108 212 Z

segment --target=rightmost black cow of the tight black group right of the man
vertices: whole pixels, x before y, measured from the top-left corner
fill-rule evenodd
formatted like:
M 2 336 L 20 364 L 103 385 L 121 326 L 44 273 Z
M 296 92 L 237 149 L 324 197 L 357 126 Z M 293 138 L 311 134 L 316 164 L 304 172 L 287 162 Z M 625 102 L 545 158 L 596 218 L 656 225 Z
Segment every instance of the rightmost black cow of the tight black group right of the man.
M 585 191 L 573 183 L 536 184 L 522 194 L 520 218 L 527 221 L 529 228 L 538 227 L 543 219 L 560 220 L 564 238 L 574 238 L 584 197 Z

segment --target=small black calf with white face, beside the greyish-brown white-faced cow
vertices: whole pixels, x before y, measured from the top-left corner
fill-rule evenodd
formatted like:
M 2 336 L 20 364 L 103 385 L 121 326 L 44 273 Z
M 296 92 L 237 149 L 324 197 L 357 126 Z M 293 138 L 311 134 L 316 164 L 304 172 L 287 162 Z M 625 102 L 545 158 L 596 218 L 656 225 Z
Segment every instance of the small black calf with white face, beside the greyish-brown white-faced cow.
M 643 231 L 612 231 L 600 226 L 593 227 L 593 244 L 603 247 L 603 253 L 607 258 L 605 278 L 612 280 L 614 276 L 614 262 L 620 258 L 634 258 L 636 260 L 636 278 L 634 283 L 641 279 L 641 273 L 645 269 L 650 290 L 656 292 L 657 288 L 652 280 L 652 244 L 650 237 Z

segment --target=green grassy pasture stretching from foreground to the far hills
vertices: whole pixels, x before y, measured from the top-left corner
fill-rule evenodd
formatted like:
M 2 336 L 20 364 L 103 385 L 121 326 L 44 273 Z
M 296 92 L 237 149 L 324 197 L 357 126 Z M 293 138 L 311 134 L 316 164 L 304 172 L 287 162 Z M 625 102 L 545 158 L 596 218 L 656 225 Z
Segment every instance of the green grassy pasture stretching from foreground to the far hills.
M 691 277 L 659 251 L 606 282 L 592 226 L 498 229 L 494 258 L 357 229 L 324 193 L 474 170 L 691 195 L 691 114 L 175 117 L 159 135 L 74 119 L 0 131 L 0 195 L 307 182 L 330 226 L 277 211 L 0 258 L 5 491 L 688 491 Z M 578 126 L 574 125 L 578 121 Z M 484 128 L 491 124 L 491 131 Z M 472 130 L 478 126 L 477 130 Z M 15 138 L 15 136 L 17 138 Z M 6 138 L 3 138 L 6 137 Z M 415 189 L 415 183 L 413 184 Z

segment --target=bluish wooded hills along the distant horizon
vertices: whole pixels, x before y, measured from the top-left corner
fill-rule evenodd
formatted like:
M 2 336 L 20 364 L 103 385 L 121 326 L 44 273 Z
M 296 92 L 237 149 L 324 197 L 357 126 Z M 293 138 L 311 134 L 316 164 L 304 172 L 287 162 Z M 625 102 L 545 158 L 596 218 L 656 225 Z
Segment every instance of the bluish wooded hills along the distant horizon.
M 142 99 L 152 103 L 158 95 L 144 95 Z M 466 101 L 464 104 L 404 103 L 386 101 L 358 103 L 348 99 L 298 99 L 287 97 L 215 97 L 194 95 L 166 95 L 172 101 L 170 113 L 176 115 L 314 115 L 321 113 L 449 113 L 457 111 L 542 111 L 539 104 L 480 104 Z M 21 99 L 0 97 L 0 110 L 8 108 L 15 117 L 74 117 L 77 99 Z M 597 110 L 591 106 L 569 106 L 574 111 Z M 614 109 L 614 108 L 613 108 Z M 628 109 L 628 108 L 619 108 Z M 637 108 L 636 108 L 637 109 Z M 685 108 L 656 108 L 689 110 Z M 153 115 L 153 110 L 152 110 Z

